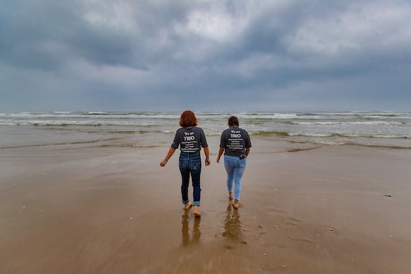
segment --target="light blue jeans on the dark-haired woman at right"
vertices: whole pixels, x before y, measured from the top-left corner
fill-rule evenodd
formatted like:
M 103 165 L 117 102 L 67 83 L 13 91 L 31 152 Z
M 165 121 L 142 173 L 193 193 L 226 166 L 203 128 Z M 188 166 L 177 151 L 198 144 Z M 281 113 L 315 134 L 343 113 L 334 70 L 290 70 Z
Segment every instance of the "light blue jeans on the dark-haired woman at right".
M 234 182 L 234 199 L 239 200 L 241 195 L 241 178 L 247 165 L 247 159 L 238 156 L 224 155 L 224 167 L 227 171 L 227 190 L 232 192 Z

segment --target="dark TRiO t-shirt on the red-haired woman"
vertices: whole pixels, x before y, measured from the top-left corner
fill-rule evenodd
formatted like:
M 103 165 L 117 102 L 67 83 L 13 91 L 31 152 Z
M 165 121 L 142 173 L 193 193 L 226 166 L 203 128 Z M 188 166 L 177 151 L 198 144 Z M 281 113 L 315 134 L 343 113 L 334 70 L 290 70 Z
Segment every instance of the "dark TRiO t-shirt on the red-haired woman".
M 208 147 L 206 134 L 201 127 L 180 127 L 175 132 L 175 137 L 171 147 L 178 149 L 184 153 L 200 153 L 201 147 Z

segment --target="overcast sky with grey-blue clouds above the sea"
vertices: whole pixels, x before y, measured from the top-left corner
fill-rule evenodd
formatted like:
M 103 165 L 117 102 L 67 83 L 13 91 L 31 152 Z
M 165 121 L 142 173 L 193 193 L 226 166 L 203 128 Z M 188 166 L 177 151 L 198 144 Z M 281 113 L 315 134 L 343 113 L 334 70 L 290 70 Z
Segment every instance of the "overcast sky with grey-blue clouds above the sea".
M 0 111 L 410 110 L 410 0 L 3 0 Z

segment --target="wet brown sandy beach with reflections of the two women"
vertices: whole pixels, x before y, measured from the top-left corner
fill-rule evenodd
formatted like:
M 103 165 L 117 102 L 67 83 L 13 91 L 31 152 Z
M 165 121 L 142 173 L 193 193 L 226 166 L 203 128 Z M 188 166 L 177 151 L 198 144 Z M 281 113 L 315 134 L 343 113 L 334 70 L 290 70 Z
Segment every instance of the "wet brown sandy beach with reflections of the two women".
M 0 273 L 411 273 L 410 150 L 258 145 L 238 210 L 210 147 L 197 219 L 167 147 L 1 149 Z

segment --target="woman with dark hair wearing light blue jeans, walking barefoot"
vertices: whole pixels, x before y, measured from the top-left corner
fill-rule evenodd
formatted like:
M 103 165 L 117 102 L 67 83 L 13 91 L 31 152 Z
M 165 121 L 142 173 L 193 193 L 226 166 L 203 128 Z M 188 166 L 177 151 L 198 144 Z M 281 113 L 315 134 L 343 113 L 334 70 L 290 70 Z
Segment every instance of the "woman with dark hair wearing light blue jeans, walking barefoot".
M 220 150 L 217 162 L 220 162 L 221 155 L 224 153 L 224 167 L 227 172 L 227 190 L 229 199 L 233 197 L 234 181 L 234 208 L 240 205 L 238 201 L 241 195 L 241 178 L 247 164 L 247 156 L 250 153 L 251 140 L 248 132 L 238 124 L 236 116 L 228 119 L 229 128 L 221 134 Z

